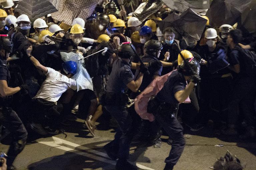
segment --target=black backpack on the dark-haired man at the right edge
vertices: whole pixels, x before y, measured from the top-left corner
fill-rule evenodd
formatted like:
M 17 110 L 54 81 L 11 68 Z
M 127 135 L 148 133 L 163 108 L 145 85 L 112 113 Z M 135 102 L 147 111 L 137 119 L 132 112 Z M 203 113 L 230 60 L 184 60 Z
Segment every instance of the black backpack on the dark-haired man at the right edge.
M 234 49 L 238 50 L 242 56 L 245 72 L 247 74 L 256 74 L 256 53 L 238 46 L 236 46 Z

